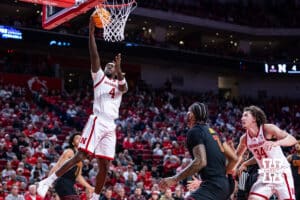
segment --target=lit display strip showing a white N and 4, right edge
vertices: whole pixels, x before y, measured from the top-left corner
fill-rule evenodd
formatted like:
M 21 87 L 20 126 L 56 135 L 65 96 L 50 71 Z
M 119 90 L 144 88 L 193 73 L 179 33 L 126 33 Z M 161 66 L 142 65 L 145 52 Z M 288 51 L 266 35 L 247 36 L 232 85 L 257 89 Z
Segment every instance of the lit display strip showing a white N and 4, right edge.
M 267 74 L 300 74 L 298 64 L 268 64 L 265 63 L 265 73 Z

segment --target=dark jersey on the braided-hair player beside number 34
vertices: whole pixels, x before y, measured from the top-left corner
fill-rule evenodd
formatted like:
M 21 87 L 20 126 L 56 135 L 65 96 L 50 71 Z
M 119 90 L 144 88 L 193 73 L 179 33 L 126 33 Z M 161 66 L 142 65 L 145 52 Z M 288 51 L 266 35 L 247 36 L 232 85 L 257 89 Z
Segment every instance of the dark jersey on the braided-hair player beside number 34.
M 198 124 L 191 128 L 187 133 L 186 144 L 193 158 L 193 148 L 199 144 L 205 146 L 207 165 L 199 172 L 202 180 L 225 177 L 225 155 L 218 141 L 211 135 L 210 129 L 206 124 Z

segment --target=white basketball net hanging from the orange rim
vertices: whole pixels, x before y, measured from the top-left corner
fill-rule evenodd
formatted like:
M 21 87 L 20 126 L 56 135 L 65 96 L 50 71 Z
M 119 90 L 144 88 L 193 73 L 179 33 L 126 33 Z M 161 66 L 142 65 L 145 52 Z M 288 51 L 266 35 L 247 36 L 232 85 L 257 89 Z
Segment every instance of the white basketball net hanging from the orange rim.
M 96 10 L 103 7 L 111 17 L 108 19 L 103 12 L 98 12 L 103 24 L 105 41 L 118 42 L 124 40 L 124 30 L 129 14 L 136 8 L 135 0 L 108 0 L 96 6 Z

